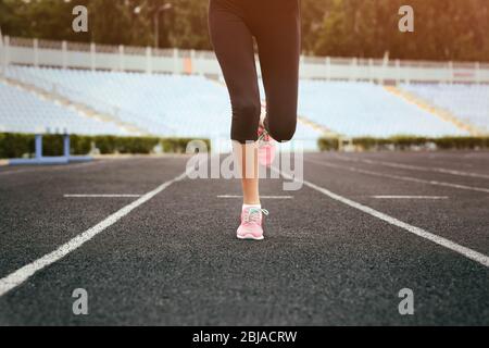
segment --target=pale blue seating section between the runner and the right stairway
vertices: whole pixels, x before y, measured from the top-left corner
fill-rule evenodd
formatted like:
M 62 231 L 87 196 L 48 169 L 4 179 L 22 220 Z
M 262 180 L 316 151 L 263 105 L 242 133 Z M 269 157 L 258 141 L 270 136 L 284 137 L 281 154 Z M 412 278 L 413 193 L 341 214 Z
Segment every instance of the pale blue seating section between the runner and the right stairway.
M 371 83 L 301 80 L 299 113 L 351 137 L 466 135 Z

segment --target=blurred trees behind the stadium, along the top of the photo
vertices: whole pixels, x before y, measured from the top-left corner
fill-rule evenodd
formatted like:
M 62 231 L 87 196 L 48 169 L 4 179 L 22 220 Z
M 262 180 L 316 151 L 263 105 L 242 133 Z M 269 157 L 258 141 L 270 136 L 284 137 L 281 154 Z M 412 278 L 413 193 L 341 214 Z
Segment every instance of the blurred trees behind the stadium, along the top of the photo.
M 265 0 L 264 0 L 265 1 Z M 211 49 L 204 0 L 0 0 L 3 34 L 55 40 L 152 46 L 154 11 L 160 47 Z M 489 1 L 411 0 L 414 33 L 400 33 L 404 0 L 301 0 L 302 49 L 331 57 L 489 61 Z M 89 9 L 89 32 L 72 30 L 72 9 Z M 135 9 L 140 9 L 135 13 Z

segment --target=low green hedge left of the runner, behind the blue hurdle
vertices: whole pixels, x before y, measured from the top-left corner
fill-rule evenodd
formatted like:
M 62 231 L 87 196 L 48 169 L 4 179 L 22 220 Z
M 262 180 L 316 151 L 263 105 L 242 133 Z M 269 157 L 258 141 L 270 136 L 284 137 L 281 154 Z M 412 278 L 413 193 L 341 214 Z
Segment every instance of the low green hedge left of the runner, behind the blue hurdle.
M 185 153 L 191 138 L 158 138 L 158 137 L 116 137 L 116 136 L 71 136 L 71 153 L 87 154 L 92 147 L 102 154 L 111 153 L 151 153 L 158 145 L 163 152 Z M 208 149 L 211 144 L 204 140 Z M 0 133 L 0 158 L 32 157 L 35 151 L 35 136 L 33 134 Z M 46 135 L 42 138 L 42 153 L 45 156 L 61 156 L 63 153 L 63 136 Z

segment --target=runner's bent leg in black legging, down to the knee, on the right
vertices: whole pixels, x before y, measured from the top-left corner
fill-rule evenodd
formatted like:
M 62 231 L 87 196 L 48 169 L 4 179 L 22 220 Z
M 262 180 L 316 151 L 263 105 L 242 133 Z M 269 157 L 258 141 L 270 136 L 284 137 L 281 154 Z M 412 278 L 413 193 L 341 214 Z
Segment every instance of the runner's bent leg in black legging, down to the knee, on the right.
M 277 141 L 293 137 L 297 126 L 301 20 L 299 0 L 256 3 L 263 15 L 252 24 L 266 94 L 265 128 Z

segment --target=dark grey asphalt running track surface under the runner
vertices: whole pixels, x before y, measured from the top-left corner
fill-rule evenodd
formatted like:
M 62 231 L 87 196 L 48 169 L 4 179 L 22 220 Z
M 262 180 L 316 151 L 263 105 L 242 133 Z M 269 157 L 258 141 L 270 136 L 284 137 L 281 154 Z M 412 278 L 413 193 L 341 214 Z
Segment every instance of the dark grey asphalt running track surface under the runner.
M 145 195 L 187 160 L 0 169 L 0 279 L 138 200 L 64 195 Z M 304 164 L 316 187 L 489 256 L 489 152 L 317 153 Z M 292 198 L 263 201 L 261 243 L 235 238 L 241 201 L 217 197 L 239 196 L 237 181 L 171 182 L 1 294 L 0 325 L 489 325 L 484 259 L 311 186 L 284 191 L 285 181 L 262 182 L 262 195 Z M 73 314 L 76 288 L 88 315 Z M 413 315 L 399 314 L 403 288 Z

